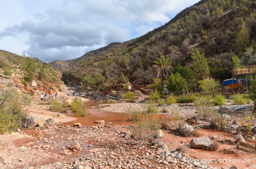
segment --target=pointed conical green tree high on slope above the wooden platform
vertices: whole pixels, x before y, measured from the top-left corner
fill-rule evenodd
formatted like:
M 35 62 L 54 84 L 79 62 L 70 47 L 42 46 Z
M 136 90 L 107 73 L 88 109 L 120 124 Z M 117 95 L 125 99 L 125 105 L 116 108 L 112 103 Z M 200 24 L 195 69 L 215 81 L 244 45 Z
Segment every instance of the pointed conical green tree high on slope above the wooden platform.
M 245 26 L 245 22 L 242 21 L 241 30 L 236 35 L 236 47 L 237 51 L 244 51 L 247 45 L 250 43 L 250 34 Z

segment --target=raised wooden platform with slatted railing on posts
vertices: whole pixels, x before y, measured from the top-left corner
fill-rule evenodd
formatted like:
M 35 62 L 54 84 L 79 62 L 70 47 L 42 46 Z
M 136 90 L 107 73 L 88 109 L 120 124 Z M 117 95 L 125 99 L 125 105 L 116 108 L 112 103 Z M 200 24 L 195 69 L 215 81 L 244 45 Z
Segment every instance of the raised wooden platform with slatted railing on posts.
M 232 79 L 233 79 L 233 90 L 234 90 L 234 77 L 242 77 L 246 78 L 246 90 L 248 90 L 248 74 L 256 73 L 256 65 L 242 66 L 233 68 Z

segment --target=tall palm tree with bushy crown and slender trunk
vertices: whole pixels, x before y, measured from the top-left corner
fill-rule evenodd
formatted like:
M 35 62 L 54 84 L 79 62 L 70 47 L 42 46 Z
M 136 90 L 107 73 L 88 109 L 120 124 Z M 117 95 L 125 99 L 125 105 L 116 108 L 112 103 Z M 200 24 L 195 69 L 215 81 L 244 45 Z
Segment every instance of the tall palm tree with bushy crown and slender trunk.
M 162 84 L 161 84 L 161 94 L 163 91 L 163 85 L 164 85 L 164 79 L 165 77 L 168 77 L 168 73 L 171 72 L 174 68 L 171 66 L 172 60 L 169 60 L 170 58 L 165 58 L 165 56 L 160 56 L 160 58 L 157 58 L 154 63 L 158 65 L 155 72 L 157 75 L 157 78 L 162 78 Z

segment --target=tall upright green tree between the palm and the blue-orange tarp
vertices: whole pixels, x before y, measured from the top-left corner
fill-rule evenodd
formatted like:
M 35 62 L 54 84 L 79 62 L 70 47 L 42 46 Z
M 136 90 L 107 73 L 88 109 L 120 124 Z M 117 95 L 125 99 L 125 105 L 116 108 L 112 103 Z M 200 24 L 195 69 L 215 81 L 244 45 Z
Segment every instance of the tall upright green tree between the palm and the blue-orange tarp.
M 205 58 L 205 54 L 200 53 L 198 48 L 196 49 L 192 48 L 191 59 L 192 59 L 191 69 L 196 78 L 196 84 L 197 84 L 197 90 L 198 90 L 198 87 L 199 87 L 198 81 L 208 76 L 210 73 L 210 70 L 209 70 L 207 59 Z

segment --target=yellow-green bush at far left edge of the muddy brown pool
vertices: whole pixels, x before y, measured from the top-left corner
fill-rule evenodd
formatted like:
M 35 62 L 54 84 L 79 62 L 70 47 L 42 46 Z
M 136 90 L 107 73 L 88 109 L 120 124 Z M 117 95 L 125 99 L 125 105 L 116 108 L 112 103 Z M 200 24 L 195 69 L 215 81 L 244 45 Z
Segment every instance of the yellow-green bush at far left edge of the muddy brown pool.
M 82 103 L 81 98 L 75 97 L 71 103 L 71 110 L 75 113 L 75 116 L 86 116 L 88 115 L 88 110 L 86 106 Z

